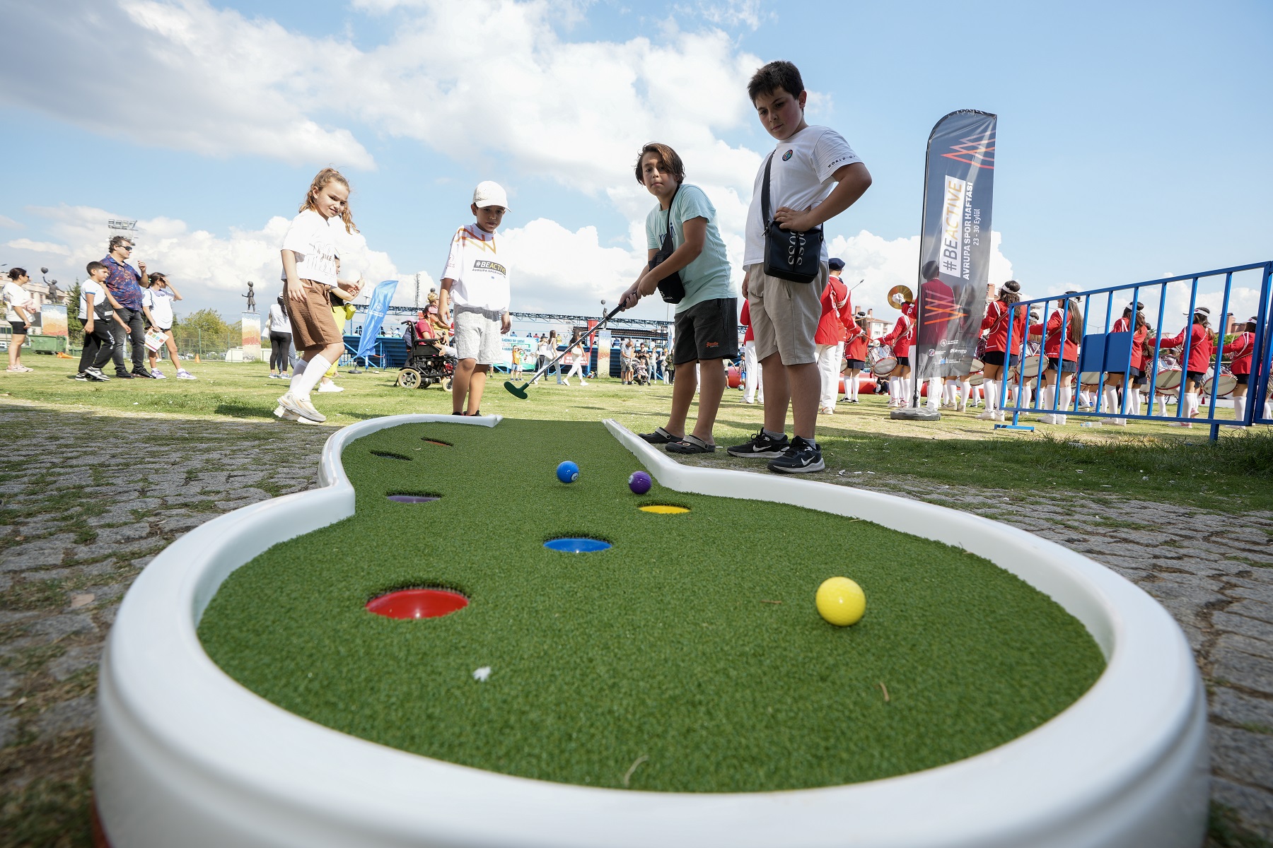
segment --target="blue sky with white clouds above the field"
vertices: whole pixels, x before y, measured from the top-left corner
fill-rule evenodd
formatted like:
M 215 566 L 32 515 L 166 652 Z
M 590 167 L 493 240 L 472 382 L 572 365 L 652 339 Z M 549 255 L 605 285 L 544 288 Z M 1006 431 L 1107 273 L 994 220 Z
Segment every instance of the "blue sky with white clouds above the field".
M 746 78 L 773 58 L 875 177 L 829 234 L 867 280 L 855 301 L 886 315 L 914 276 L 928 132 L 959 108 L 999 116 L 992 281 L 1037 296 L 1273 258 L 1268 3 L 0 8 L 0 262 L 70 280 L 107 216 L 141 219 L 139 254 L 224 313 L 278 277 L 271 219 L 327 164 L 354 184 L 369 277 L 437 275 L 472 186 L 496 179 L 514 309 L 593 313 L 639 270 L 652 200 L 631 165 L 657 139 L 737 262 L 773 144 Z

